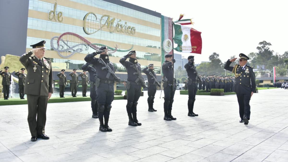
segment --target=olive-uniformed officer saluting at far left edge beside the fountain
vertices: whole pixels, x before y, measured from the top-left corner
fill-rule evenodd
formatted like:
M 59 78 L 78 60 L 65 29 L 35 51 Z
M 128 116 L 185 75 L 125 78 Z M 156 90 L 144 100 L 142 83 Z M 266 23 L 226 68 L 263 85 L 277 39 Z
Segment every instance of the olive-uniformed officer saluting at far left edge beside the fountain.
M 5 71 L 3 71 L 4 69 Z M 12 78 L 11 78 L 11 73 L 8 72 L 9 67 L 6 66 L 4 67 L 4 69 L 0 71 L 0 75 L 2 76 L 4 99 L 8 99 Z

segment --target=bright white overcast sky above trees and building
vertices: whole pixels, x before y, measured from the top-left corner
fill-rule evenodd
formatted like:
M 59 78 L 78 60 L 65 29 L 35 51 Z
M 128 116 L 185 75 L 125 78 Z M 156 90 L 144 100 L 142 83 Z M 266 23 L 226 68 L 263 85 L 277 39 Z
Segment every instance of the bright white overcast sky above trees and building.
M 193 18 L 201 31 L 202 54 L 181 53 L 187 58 L 195 56 L 195 63 L 209 61 L 213 52 L 222 62 L 240 53 L 257 52 L 263 40 L 272 44 L 274 54 L 288 51 L 288 1 L 280 0 L 124 0 L 164 16 L 178 20 Z M 174 44 L 175 47 L 175 44 Z M 174 50 L 174 53 L 179 53 Z

